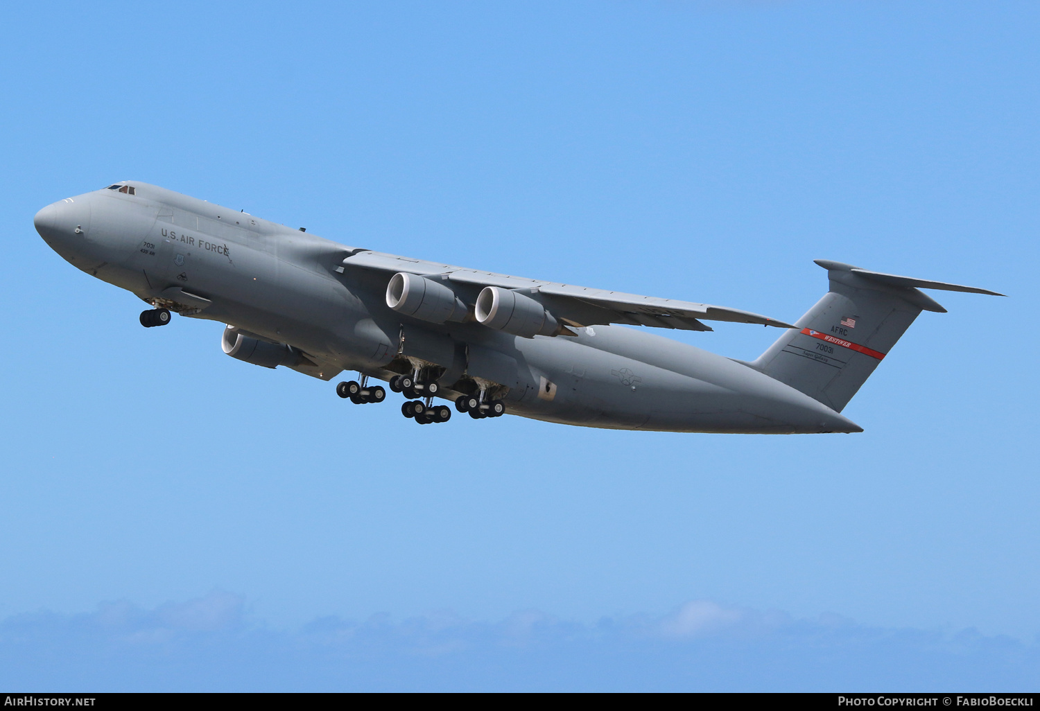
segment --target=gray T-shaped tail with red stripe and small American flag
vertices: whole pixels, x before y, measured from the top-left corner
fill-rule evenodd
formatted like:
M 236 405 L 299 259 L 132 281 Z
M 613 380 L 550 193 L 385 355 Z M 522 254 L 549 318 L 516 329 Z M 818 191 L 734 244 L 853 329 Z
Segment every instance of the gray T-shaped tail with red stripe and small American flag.
M 841 412 L 921 311 L 946 310 L 919 291 L 1003 296 L 974 287 L 868 271 L 815 260 L 830 291 L 750 365 Z

